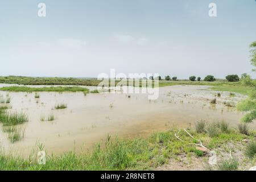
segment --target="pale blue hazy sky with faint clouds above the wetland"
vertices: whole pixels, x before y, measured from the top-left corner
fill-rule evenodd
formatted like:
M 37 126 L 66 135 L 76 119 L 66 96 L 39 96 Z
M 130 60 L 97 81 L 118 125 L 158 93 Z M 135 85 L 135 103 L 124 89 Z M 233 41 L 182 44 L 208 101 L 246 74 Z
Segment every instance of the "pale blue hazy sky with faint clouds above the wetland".
M 38 16 L 45 3 L 46 17 Z M 209 3 L 217 16 L 210 17 Z M 249 73 L 255 0 L 0 2 L 0 76 Z

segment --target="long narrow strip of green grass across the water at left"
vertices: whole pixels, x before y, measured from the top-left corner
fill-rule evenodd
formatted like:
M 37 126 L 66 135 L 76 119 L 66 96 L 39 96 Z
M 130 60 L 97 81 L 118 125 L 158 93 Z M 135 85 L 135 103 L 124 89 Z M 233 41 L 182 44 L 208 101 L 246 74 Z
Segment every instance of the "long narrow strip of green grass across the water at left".
M 32 88 L 28 86 L 6 86 L 0 88 L 2 91 L 10 92 L 88 92 L 89 89 L 80 86 L 51 86 L 42 88 Z M 35 95 L 35 98 L 38 95 Z

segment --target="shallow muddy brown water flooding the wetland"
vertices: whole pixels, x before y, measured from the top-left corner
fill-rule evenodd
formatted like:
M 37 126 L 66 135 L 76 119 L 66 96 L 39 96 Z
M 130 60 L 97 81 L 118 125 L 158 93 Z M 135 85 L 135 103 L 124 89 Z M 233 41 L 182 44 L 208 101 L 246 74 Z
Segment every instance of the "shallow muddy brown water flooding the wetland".
M 0 85 L 6 86 L 6 85 Z M 94 87 L 89 87 L 93 90 Z M 0 129 L 2 150 L 19 155 L 30 154 L 36 142 L 43 143 L 48 152 L 62 154 L 75 150 L 78 154 L 97 142 L 105 141 L 106 135 L 123 138 L 135 136 L 147 137 L 154 131 L 168 130 L 173 126 L 188 127 L 205 119 L 208 122 L 225 121 L 235 127 L 242 113 L 224 102 L 236 102 L 244 97 L 229 92 L 221 92 L 217 104 L 209 103 L 217 92 L 208 90 L 208 86 L 166 86 L 159 88 L 159 98 L 149 101 L 147 94 L 100 93 L 35 93 L 8 92 L 11 97 L 10 111 L 27 113 L 29 122 L 24 138 L 10 143 L 7 134 Z M 5 96 L 7 92 L 0 92 Z M 130 96 L 130 98 L 128 97 Z M 55 105 L 67 104 L 67 109 L 56 110 Z M 54 121 L 40 121 L 49 114 L 55 115 Z M 255 127 L 255 125 L 252 125 Z

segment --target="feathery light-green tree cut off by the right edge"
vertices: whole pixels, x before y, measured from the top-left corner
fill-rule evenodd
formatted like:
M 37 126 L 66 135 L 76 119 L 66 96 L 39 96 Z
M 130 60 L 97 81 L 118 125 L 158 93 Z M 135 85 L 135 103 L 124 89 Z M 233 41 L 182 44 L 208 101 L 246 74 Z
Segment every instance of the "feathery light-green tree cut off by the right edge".
M 251 65 L 256 67 L 256 41 L 251 43 Z M 253 69 L 254 72 L 256 72 L 255 69 Z M 246 78 L 250 78 L 246 75 Z M 247 114 L 242 118 L 243 122 L 252 122 L 254 119 L 256 119 L 256 83 L 251 81 L 251 84 L 253 84 L 253 91 L 251 91 L 249 97 L 246 100 L 241 101 L 237 105 L 237 109 L 240 111 L 247 111 Z

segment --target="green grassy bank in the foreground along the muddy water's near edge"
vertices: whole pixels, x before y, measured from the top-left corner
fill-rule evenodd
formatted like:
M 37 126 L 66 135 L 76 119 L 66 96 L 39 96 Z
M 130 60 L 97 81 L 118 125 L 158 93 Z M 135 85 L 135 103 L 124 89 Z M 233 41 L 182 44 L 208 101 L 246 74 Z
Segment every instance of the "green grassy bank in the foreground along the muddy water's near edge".
M 179 134 L 179 138 L 175 134 Z M 240 134 L 235 129 L 221 130 L 209 137 L 208 133 L 196 133 L 189 130 L 189 133 L 196 139 L 200 139 L 209 150 L 221 149 L 229 154 L 236 150 L 230 147 L 231 144 L 242 143 L 243 139 L 253 140 L 255 132 L 250 135 Z M 208 156 L 197 150 L 197 140 L 189 137 L 184 130 L 172 129 L 167 132 L 152 134 L 147 139 L 118 139 L 109 137 L 105 143 L 96 144 L 92 152 L 76 155 L 74 152 L 67 152 L 64 155 L 47 155 L 46 165 L 39 165 L 31 154 L 30 159 L 22 159 L 17 156 L 0 155 L 1 170 L 130 170 L 130 169 L 155 169 L 158 166 L 168 163 L 171 159 L 180 162 L 181 158 L 192 161 L 193 158 L 207 161 Z M 245 143 L 243 143 L 245 145 Z M 42 150 L 42 146 L 40 147 Z M 240 149 L 241 150 L 241 149 Z M 245 151 L 241 151 L 242 154 Z M 240 153 L 241 153 L 240 152 Z M 255 152 L 255 151 L 253 151 Z M 253 153 L 254 154 L 254 153 Z M 253 155 L 254 156 L 254 155 Z M 242 169 L 244 164 L 255 164 L 254 159 L 242 158 L 238 162 L 237 169 Z M 202 161 L 203 161 L 202 160 Z M 193 161 L 192 161 L 193 162 Z M 201 163 L 204 166 L 205 163 Z M 207 169 L 207 168 L 205 168 Z

